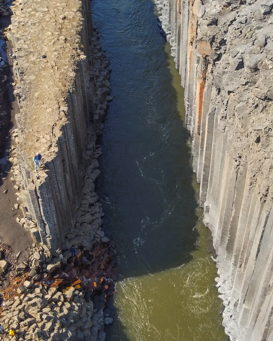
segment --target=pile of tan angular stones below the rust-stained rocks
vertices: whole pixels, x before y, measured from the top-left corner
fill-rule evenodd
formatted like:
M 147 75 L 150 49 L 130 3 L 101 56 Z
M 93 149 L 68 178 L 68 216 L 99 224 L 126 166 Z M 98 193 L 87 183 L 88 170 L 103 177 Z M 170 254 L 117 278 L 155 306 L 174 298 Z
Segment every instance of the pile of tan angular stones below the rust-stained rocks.
M 83 291 L 73 286 L 62 293 L 56 287 L 25 281 L 17 293 L 5 302 L 0 321 L 4 330 L 15 328 L 18 340 L 103 341 L 104 321 L 113 321 L 103 312 L 105 300 L 94 309 L 92 301 L 84 300 Z

